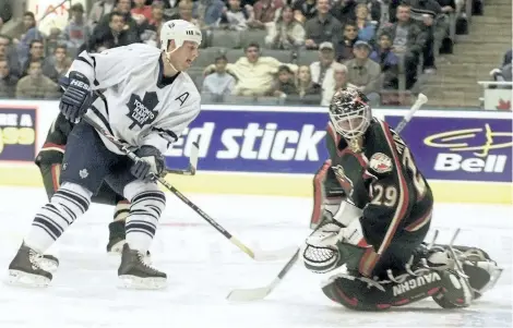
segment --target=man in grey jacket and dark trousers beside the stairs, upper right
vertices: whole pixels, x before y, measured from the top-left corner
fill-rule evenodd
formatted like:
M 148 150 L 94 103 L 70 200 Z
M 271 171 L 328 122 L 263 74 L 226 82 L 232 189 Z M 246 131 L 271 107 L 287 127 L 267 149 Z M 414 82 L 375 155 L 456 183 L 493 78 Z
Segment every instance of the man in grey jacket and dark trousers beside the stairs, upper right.
M 406 89 L 415 85 L 419 56 L 426 44 L 426 34 L 411 22 L 409 9 L 409 4 L 401 4 L 397 8 L 397 22 L 382 29 L 392 39 L 392 51 L 404 60 Z

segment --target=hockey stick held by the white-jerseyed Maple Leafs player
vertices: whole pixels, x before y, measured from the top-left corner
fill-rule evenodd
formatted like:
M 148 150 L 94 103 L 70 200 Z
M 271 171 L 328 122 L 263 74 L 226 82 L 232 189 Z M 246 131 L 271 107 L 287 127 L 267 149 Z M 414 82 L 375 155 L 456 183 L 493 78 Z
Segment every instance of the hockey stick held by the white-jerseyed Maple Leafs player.
M 123 151 L 131 160 L 133 161 L 139 161 L 141 158 L 139 158 L 132 150 L 130 150 L 129 146 L 121 143 L 119 139 L 117 139 L 114 135 L 110 134 L 107 129 L 104 129 L 102 125 L 93 121 L 91 118 L 87 116 L 83 117 L 83 120 L 96 129 L 98 133 L 104 135 L 106 138 L 108 138 L 114 145 L 116 145 L 121 151 Z M 194 155 L 195 154 L 195 155 Z M 193 151 L 195 157 L 195 162 L 198 162 L 198 151 Z M 192 157 L 192 158 L 193 158 Z M 194 160 L 191 160 L 191 162 Z M 195 172 L 195 165 L 192 163 L 190 166 L 191 171 Z M 176 171 L 176 170 L 175 170 Z M 184 171 L 183 171 L 184 172 Z M 184 174 L 184 173 L 181 173 Z M 162 185 L 164 185 L 168 191 L 170 191 L 175 196 L 180 198 L 187 206 L 192 208 L 196 214 L 199 214 L 206 222 L 208 222 L 212 227 L 215 228 L 218 232 L 220 232 L 227 240 L 229 240 L 234 245 L 239 247 L 242 252 L 248 254 L 251 258 L 259 260 L 259 262 L 267 262 L 267 260 L 277 260 L 282 259 L 284 257 L 289 256 L 291 253 L 291 250 L 288 248 L 283 248 L 283 250 L 277 250 L 277 251 L 270 251 L 265 252 L 260 248 L 254 248 L 251 250 L 250 247 L 246 246 L 242 242 L 240 242 L 237 238 L 231 235 L 225 228 L 223 228 L 219 223 L 217 223 L 213 218 L 211 218 L 206 212 L 204 212 L 200 207 L 198 207 L 194 203 L 192 203 L 189 198 L 187 198 L 182 193 L 180 193 L 175 186 L 172 186 L 169 182 L 167 182 L 163 177 L 158 177 L 156 174 L 152 173 L 152 179 L 155 181 L 158 181 Z

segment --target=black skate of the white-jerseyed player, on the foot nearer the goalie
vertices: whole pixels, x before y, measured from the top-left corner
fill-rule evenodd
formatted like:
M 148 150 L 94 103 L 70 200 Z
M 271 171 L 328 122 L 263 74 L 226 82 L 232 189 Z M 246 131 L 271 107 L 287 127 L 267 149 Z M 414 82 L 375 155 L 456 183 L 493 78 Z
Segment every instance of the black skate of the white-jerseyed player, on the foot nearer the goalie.
M 127 289 L 164 289 L 167 284 L 167 275 L 152 268 L 144 260 L 144 255 L 130 250 L 124 244 L 121 264 L 118 269 L 120 287 Z

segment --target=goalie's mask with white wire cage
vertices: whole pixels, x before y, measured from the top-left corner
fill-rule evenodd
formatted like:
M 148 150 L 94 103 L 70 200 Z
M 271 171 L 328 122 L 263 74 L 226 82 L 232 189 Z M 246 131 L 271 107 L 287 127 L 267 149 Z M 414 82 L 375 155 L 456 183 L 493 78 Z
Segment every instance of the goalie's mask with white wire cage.
M 330 104 L 330 120 L 346 139 L 363 135 L 372 120 L 369 99 L 357 88 L 338 89 Z

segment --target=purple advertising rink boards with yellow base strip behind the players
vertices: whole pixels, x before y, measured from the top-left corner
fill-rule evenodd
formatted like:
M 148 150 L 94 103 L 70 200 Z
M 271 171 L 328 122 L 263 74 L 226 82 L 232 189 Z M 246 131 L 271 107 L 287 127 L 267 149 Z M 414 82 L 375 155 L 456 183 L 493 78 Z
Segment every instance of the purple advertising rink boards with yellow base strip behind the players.
M 39 186 L 35 155 L 58 113 L 57 101 L 0 100 L 0 184 Z M 406 110 L 374 109 L 396 126 Z M 182 192 L 305 196 L 327 157 L 326 109 L 203 106 L 166 154 L 186 168 L 200 145 L 195 177 L 169 175 Z M 512 203 L 512 113 L 420 110 L 402 132 L 438 202 Z

